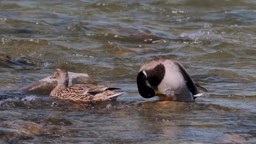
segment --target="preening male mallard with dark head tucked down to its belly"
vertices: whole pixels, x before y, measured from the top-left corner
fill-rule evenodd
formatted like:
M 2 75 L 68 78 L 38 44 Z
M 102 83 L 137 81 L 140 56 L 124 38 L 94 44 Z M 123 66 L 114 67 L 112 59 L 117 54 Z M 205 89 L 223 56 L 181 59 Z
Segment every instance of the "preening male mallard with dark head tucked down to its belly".
M 144 64 L 137 76 L 139 94 L 143 98 L 155 95 L 161 100 L 194 101 L 201 96 L 197 85 L 181 63 L 167 58 L 155 58 Z

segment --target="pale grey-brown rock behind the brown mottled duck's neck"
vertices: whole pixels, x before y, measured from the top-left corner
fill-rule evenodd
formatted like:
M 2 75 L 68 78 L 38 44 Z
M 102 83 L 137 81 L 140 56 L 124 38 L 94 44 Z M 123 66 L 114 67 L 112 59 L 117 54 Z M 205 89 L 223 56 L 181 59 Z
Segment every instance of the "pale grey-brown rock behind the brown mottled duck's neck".
M 20 91 L 23 92 L 32 92 L 39 94 L 50 94 L 51 91 L 57 86 L 56 79 L 50 79 L 51 76 L 48 76 L 42 80 L 31 83 L 28 86 L 20 88 Z M 68 72 L 69 83 L 68 86 L 74 84 L 92 84 L 96 85 L 97 83 L 92 79 L 88 74 L 84 73 L 72 73 Z

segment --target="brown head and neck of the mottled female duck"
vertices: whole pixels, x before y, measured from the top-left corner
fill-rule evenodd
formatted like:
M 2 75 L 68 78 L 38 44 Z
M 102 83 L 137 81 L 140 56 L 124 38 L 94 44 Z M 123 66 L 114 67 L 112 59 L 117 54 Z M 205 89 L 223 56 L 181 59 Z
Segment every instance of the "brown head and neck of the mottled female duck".
M 68 73 L 67 70 L 57 68 L 54 75 L 50 79 L 56 79 L 59 86 L 68 86 Z

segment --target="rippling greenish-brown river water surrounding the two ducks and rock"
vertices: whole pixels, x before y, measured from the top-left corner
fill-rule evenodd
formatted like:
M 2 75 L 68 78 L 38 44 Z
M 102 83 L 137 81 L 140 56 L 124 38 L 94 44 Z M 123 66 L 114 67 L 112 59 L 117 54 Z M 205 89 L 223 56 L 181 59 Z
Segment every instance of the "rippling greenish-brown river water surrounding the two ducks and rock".
M 255 1 L 0 2 L 0 142 L 256 143 Z M 143 99 L 148 59 L 181 62 L 195 103 Z M 125 94 L 77 104 L 16 92 L 56 67 Z

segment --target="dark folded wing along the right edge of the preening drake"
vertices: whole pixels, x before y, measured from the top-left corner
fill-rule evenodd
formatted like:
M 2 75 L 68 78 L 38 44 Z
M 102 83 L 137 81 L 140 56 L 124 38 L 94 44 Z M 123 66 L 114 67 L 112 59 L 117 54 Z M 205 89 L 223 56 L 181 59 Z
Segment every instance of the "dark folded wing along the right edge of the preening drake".
M 202 94 L 200 94 L 198 89 L 201 89 L 203 91 L 206 90 L 206 92 L 207 92 L 206 88 L 203 88 L 203 87 L 195 84 L 195 82 L 193 81 L 193 79 L 191 78 L 191 76 L 188 74 L 187 70 L 185 70 L 185 68 L 183 67 L 183 65 L 181 63 L 179 63 L 177 61 L 174 61 L 174 63 L 176 63 L 178 65 L 179 69 L 181 70 L 181 73 L 187 83 L 188 89 L 193 94 L 193 96 L 195 96 L 197 94 L 202 95 Z M 197 97 L 197 96 L 195 96 L 195 97 Z

